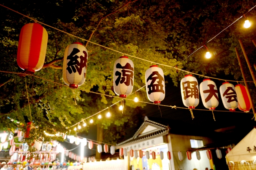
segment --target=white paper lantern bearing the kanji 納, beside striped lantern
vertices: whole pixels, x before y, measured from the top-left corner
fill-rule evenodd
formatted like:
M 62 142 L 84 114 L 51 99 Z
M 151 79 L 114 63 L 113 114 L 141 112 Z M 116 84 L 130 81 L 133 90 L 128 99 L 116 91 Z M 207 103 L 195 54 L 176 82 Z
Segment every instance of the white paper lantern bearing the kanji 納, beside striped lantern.
M 78 42 L 66 47 L 63 60 L 63 80 L 70 88 L 84 84 L 88 61 L 87 49 Z

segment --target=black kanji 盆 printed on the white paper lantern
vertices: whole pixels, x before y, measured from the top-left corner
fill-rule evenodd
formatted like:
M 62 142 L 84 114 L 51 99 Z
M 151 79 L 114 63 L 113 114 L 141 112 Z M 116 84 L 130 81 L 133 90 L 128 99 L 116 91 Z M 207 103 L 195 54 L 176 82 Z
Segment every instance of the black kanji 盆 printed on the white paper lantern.
M 161 76 L 161 74 L 158 73 L 158 71 L 153 71 L 152 74 L 148 76 L 147 82 L 148 80 L 152 80 L 150 85 L 148 85 L 148 94 L 154 92 L 162 92 L 164 94 L 164 85 L 162 85 L 162 81 L 164 81 L 164 78 Z M 157 82 L 157 84 L 155 84 L 155 82 Z

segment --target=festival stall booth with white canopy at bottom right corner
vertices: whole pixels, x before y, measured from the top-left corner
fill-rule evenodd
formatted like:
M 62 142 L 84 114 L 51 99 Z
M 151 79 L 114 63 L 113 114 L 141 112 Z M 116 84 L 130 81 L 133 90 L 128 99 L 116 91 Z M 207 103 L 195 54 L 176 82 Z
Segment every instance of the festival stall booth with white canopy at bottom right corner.
M 256 170 L 256 129 L 252 129 L 228 154 L 230 170 Z

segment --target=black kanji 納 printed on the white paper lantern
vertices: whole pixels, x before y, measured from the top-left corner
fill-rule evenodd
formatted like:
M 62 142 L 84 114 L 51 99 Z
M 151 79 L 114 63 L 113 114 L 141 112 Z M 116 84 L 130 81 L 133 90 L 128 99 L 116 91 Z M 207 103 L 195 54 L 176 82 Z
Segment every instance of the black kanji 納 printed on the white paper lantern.
M 68 67 L 67 70 L 69 72 L 69 74 L 71 74 L 72 72 L 76 73 L 76 71 L 78 72 L 79 75 L 82 74 L 82 69 L 84 67 L 87 66 L 87 53 L 86 51 L 83 51 L 84 53 L 84 57 L 81 55 L 80 57 L 78 57 L 78 55 L 76 55 L 77 53 L 79 53 L 80 50 L 77 48 L 74 48 L 73 51 L 70 53 L 70 55 L 67 57 L 68 61 Z M 80 58 L 80 62 L 77 60 Z

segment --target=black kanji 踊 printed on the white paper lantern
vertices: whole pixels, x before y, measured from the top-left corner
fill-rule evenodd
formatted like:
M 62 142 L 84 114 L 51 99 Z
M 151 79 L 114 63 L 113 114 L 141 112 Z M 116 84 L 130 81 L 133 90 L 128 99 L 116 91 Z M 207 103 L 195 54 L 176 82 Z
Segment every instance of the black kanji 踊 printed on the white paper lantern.
M 185 87 L 185 84 L 187 84 L 186 87 Z M 182 82 L 182 90 L 183 90 L 184 100 L 186 100 L 189 97 L 193 98 L 193 96 L 195 99 L 199 99 L 198 88 L 196 87 L 197 85 L 198 84 L 196 81 Z

